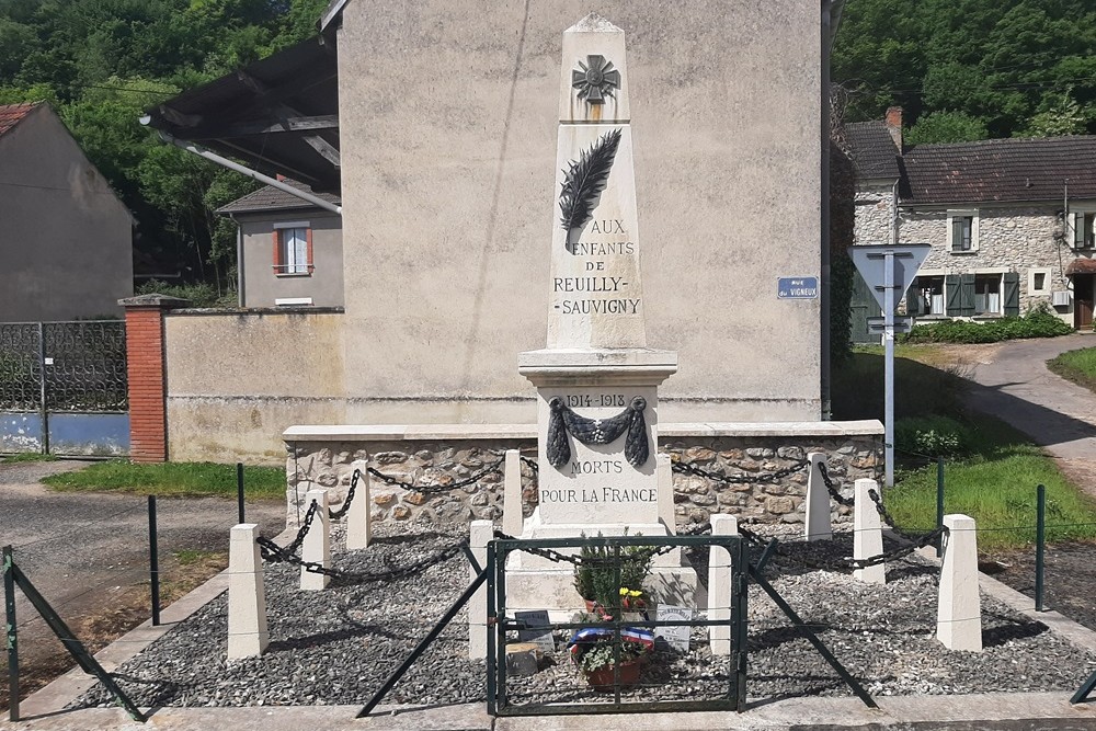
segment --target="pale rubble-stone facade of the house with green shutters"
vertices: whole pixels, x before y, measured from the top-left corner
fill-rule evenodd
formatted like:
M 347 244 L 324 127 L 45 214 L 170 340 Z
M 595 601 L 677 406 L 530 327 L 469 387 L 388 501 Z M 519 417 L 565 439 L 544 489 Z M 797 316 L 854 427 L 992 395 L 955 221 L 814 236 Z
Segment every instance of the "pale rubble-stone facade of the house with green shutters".
M 978 210 L 978 250 L 951 253 L 948 238 L 947 209 L 904 208 L 900 214 L 901 243 L 931 243 L 933 250 L 921 267 L 925 275 L 961 274 L 990 271 L 1013 271 L 1019 274 L 1020 313 L 1036 302 L 1051 302 L 1051 292 L 1068 289 L 1064 267 L 1076 254 L 1054 238 L 1061 229 L 1058 212 L 1061 206 L 1034 204 L 998 204 L 993 206 L 955 206 L 955 209 Z M 1029 289 L 1032 269 L 1049 274 L 1047 292 Z M 1073 307 L 1052 308 L 1073 323 Z

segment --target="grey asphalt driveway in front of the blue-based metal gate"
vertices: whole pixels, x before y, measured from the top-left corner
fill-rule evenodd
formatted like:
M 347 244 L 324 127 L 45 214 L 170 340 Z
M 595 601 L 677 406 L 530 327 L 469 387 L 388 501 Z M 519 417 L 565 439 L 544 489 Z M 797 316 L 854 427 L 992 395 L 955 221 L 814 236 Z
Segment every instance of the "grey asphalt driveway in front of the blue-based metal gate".
M 52 492 L 38 483 L 46 475 L 85 464 L 0 465 L 0 545 L 14 547 L 16 564 L 78 635 L 85 618 L 111 613 L 112 598 L 119 592 L 148 581 L 146 498 Z M 228 550 L 229 529 L 237 521 L 235 500 L 157 502 L 161 568 L 174 550 Z M 246 514 L 262 526 L 263 535 L 276 535 L 285 527 L 282 502 L 248 503 Z M 15 595 L 21 660 L 55 654 L 60 644 L 35 618 L 22 593 Z

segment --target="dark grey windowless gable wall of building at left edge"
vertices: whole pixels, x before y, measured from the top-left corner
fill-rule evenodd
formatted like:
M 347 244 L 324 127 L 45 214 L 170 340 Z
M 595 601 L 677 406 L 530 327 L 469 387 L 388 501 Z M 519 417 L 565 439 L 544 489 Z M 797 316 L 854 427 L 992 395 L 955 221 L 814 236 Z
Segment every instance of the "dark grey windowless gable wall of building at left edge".
M 47 106 L 0 137 L 0 321 L 122 317 L 129 213 Z

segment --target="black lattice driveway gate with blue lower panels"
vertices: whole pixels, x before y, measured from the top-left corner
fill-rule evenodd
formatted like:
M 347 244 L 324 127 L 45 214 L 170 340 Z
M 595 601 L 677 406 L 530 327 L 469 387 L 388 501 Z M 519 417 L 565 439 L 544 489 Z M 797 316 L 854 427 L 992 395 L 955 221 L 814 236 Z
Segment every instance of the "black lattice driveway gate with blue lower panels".
M 0 323 L 0 453 L 127 455 L 126 325 Z

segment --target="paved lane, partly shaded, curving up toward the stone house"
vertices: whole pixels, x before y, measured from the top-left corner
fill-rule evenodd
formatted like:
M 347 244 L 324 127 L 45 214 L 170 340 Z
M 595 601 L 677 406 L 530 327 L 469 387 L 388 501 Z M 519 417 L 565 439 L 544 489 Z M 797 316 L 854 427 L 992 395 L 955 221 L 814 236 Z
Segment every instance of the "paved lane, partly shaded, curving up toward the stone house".
M 1047 368 L 1047 361 L 1082 347 L 1096 347 L 1096 335 L 1004 343 L 974 368 L 968 403 L 1030 436 L 1096 495 L 1096 393 Z

